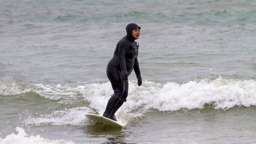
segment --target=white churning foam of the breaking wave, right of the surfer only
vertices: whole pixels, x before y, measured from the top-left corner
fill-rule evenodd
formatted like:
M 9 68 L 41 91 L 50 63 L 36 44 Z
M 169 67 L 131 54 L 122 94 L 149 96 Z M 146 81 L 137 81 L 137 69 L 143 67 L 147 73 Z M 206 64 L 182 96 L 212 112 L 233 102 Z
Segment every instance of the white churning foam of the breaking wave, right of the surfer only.
M 146 84 L 149 82 L 145 82 Z M 139 88 L 130 86 L 131 103 L 125 106 L 142 106 L 141 109 L 154 108 L 160 111 L 203 108 L 205 103 L 214 104 L 215 109 L 228 109 L 235 105 L 256 105 L 256 82 L 222 80 L 221 77 L 210 83 L 190 81 L 183 85 L 167 83 L 163 87 L 149 86 Z M 136 89 L 136 90 L 134 90 Z

